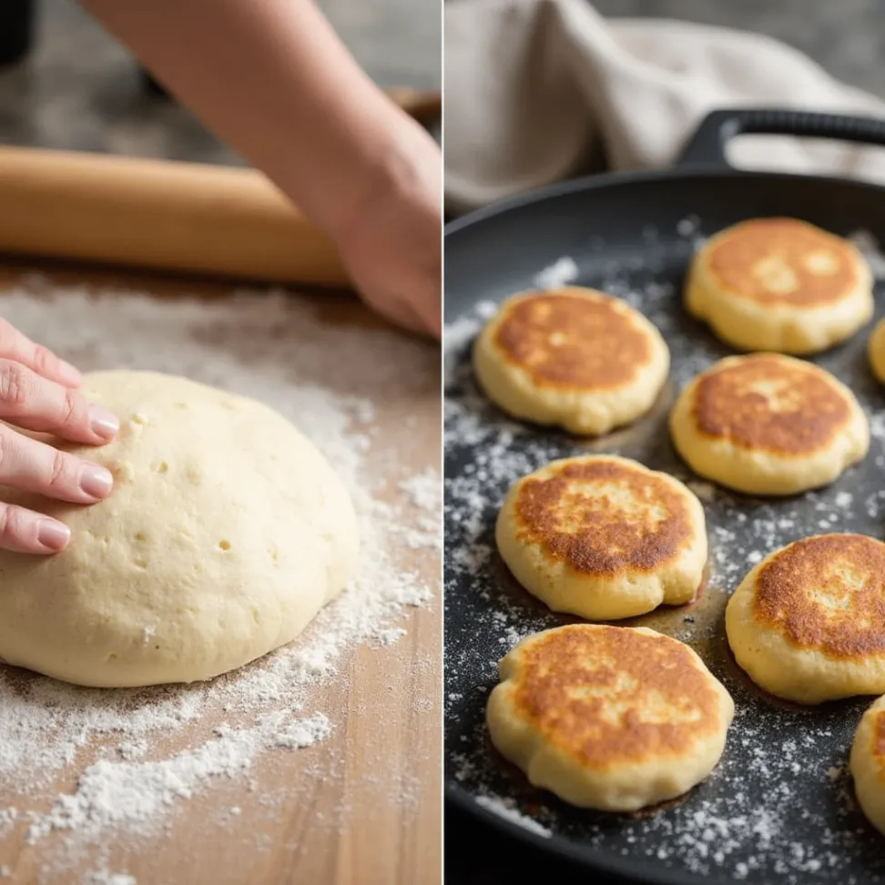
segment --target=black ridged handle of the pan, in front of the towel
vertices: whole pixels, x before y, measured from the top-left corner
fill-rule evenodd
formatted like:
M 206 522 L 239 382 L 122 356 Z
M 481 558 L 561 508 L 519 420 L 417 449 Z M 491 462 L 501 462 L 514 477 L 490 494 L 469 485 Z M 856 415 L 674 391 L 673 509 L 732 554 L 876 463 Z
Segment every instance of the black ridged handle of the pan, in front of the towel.
M 697 127 L 676 165 L 730 168 L 726 159 L 726 145 L 738 135 L 835 138 L 885 146 L 885 120 L 773 108 L 713 111 Z

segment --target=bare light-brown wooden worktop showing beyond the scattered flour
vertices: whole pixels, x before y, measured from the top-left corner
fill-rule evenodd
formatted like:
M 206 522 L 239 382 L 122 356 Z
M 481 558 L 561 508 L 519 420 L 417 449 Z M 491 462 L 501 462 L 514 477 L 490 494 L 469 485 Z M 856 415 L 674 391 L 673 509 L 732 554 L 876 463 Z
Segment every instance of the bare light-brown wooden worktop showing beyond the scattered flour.
M 0 286 L 5 289 L 23 270 L 34 268 L 9 261 L 0 265 Z M 215 298 L 230 290 L 219 283 L 158 276 L 39 270 L 57 284 L 123 284 L 158 298 L 182 292 Z M 319 314 L 330 325 L 370 328 L 381 322 L 351 296 L 309 297 L 322 301 Z M 433 345 L 427 348 L 432 350 Z M 409 466 L 438 470 L 439 386 L 417 398 L 398 402 L 393 397 L 375 405 L 381 435 L 400 425 L 405 416 L 416 416 L 410 421 Z M 417 572 L 438 594 L 436 550 L 405 554 L 402 568 Z M 108 829 L 105 844 L 74 852 L 64 874 L 57 861 L 47 872 L 45 860 L 58 854 L 69 838 L 66 832 L 52 832 L 31 846 L 25 842 L 25 823 L 0 829 L 0 871 L 9 874 L 0 882 L 117 885 L 112 878 L 90 879 L 90 871 L 98 868 L 125 872 L 138 885 L 440 882 L 441 608 L 438 596 L 430 605 L 406 608 L 397 622 L 407 630 L 405 636 L 389 647 L 358 647 L 342 661 L 339 676 L 315 689 L 311 707 L 331 719 L 331 737 L 294 752 L 264 753 L 246 778 L 219 778 L 184 802 L 161 836 L 129 838 L 125 832 Z M 215 723 L 210 719 L 193 724 L 188 744 L 211 733 Z M 76 776 L 75 766 L 58 778 L 55 791 L 47 795 L 46 808 L 58 792 L 76 787 Z M 0 808 L 16 805 L 13 791 L 14 787 L 0 783 Z M 240 809 L 235 826 L 214 826 L 219 809 L 231 807 Z

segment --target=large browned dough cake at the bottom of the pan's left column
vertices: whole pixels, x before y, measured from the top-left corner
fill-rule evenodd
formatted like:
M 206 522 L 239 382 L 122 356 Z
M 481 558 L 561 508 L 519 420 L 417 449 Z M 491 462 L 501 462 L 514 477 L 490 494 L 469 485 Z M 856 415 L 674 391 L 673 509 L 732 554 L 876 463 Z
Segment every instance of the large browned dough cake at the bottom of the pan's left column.
M 700 783 L 734 703 L 688 646 L 645 627 L 575 624 L 528 636 L 489 696 L 492 743 L 536 787 L 635 811 Z

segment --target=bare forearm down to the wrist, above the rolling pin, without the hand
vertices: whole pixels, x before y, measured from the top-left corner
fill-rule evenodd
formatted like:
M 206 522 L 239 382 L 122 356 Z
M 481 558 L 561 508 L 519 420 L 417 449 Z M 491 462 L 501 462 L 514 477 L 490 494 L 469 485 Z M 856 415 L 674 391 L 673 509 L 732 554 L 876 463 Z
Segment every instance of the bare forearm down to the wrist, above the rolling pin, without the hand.
M 426 134 L 371 83 L 312 0 L 83 3 L 333 235 L 412 175 Z

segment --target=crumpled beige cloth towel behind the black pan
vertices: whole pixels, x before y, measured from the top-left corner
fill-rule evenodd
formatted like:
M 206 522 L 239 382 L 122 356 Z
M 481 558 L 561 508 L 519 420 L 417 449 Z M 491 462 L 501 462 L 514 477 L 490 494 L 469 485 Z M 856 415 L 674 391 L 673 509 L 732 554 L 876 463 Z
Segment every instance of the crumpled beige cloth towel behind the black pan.
M 885 117 L 885 102 L 766 36 L 606 20 L 585 0 L 453 0 L 444 8 L 453 214 L 574 176 L 600 149 L 617 170 L 668 166 L 717 108 Z M 747 136 L 729 159 L 885 181 L 882 148 Z

